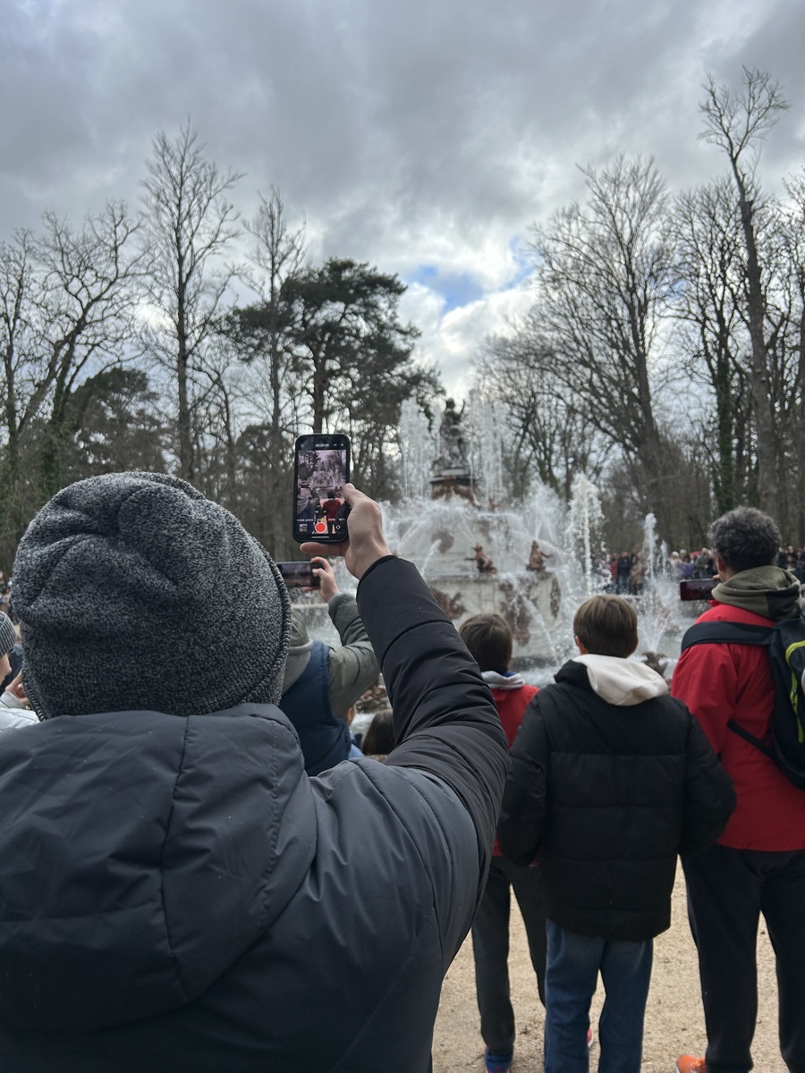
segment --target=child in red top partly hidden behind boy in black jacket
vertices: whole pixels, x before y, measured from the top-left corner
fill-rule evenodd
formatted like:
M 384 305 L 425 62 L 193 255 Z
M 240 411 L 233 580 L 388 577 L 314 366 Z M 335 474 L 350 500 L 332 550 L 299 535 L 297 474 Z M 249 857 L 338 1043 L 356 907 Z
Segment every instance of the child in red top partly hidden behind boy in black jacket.
M 512 631 L 500 615 L 473 615 L 458 631 L 483 674 L 500 716 L 509 748 L 514 745 L 536 686 L 526 686 L 509 670 Z M 504 861 L 495 841 L 489 878 L 472 924 L 475 991 L 487 1073 L 507 1073 L 514 1053 L 514 1009 L 509 997 L 509 907 L 511 890 L 526 926 L 528 951 L 545 1004 L 545 914 L 537 887 L 537 869 Z

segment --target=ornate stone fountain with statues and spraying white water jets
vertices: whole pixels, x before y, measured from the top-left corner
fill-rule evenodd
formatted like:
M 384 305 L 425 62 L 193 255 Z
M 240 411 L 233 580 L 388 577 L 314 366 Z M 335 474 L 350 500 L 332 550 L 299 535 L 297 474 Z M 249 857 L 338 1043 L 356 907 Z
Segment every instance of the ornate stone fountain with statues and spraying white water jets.
M 596 486 L 583 474 L 565 505 L 537 487 L 516 508 L 502 502 L 502 415 L 474 395 L 458 410 L 448 400 L 438 432 L 413 405 L 402 408 L 400 454 L 404 498 L 383 505 L 389 546 L 412 561 L 456 628 L 471 615 L 502 615 L 514 634 L 513 662 L 538 684 L 575 653 L 572 617 L 610 583 L 603 516 Z M 466 431 L 465 431 L 466 430 Z M 656 519 L 644 524 L 643 594 L 629 597 L 639 618 L 638 658 L 678 655 L 678 583 L 657 548 Z M 342 589 L 354 579 L 341 562 Z M 337 643 L 318 596 L 304 600 L 310 633 Z M 701 608 L 700 608 L 701 609 Z

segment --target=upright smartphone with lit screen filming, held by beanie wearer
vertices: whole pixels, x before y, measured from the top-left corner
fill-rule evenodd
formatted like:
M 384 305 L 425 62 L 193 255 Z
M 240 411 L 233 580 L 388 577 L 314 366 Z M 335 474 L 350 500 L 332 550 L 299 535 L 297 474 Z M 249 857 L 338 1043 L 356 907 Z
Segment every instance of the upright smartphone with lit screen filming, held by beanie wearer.
M 317 432 L 296 441 L 293 462 L 291 535 L 302 544 L 340 544 L 347 539 L 349 506 L 343 486 L 350 479 L 350 441 L 340 432 Z

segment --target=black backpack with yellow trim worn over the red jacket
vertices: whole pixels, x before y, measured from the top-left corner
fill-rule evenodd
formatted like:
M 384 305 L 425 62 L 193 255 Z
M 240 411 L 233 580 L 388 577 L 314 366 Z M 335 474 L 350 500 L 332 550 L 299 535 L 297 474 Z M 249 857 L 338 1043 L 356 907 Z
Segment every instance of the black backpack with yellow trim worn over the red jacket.
M 771 758 L 797 790 L 805 790 L 805 616 L 774 626 L 697 622 L 682 638 L 682 650 L 691 645 L 762 645 L 769 649 L 776 694 L 771 741 L 756 738 L 734 719 L 727 725 Z

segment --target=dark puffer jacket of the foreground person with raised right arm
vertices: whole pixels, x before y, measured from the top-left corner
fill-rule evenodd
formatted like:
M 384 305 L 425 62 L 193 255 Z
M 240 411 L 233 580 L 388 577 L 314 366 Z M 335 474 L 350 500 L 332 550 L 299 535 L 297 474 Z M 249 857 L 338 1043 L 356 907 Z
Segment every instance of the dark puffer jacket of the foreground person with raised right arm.
M 507 744 L 410 563 L 358 589 L 400 744 L 303 770 L 273 706 L 0 739 L 0 1068 L 419 1073 Z

